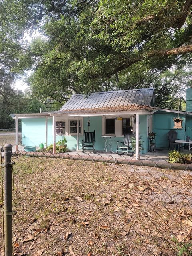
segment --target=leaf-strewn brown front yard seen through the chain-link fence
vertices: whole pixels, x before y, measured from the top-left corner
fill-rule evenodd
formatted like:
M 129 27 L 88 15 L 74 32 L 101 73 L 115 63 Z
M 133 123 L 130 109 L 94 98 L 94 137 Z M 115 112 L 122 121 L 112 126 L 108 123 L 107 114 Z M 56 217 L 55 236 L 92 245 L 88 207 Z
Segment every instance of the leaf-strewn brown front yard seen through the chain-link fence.
M 192 255 L 191 166 L 69 158 L 13 157 L 15 256 Z

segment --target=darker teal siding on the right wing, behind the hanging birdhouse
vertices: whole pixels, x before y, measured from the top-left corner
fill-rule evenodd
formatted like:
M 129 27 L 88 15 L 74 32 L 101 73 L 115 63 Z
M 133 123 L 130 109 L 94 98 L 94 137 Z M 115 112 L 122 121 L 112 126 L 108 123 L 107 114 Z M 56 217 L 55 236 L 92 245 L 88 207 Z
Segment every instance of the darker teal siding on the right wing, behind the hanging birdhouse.
M 168 132 L 175 130 L 178 134 L 177 138 L 184 140 L 185 136 L 185 116 L 180 115 L 179 117 L 183 120 L 182 129 L 174 129 L 174 121 L 177 114 L 167 112 L 157 112 L 153 115 L 153 131 L 156 133 L 156 148 L 168 148 Z

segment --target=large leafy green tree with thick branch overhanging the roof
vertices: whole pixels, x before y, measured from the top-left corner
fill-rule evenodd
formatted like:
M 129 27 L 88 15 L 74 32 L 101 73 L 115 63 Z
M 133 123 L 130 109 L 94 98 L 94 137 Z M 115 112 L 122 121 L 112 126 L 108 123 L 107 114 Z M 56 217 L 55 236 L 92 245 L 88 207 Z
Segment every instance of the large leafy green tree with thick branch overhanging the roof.
M 4 20 L 42 38 L 19 47 L 34 95 L 154 87 L 174 107 L 191 77 L 191 0 L 4 0 Z M 186 69 L 187 67 L 187 69 Z M 181 84 L 182 82 L 182 84 Z

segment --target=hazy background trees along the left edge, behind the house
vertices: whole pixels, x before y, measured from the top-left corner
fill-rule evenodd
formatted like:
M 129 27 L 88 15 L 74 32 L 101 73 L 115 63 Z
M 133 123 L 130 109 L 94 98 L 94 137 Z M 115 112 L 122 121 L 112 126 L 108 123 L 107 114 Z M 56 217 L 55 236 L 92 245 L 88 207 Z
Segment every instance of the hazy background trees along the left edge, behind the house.
M 23 65 L 26 69 L 32 65 L 32 61 L 31 55 L 26 58 L 30 54 L 24 40 L 26 20 L 12 17 L 10 4 L 13 12 L 17 10 L 19 15 L 22 12 L 22 4 L 18 1 L 0 2 L 0 129 L 14 127 L 14 120 L 9 116 L 12 113 L 40 112 L 40 108 L 46 110 L 38 99 L 16 90 L 13 86 L 14 80 L 23 74 L 23 70 L 18 74 L 18 65 L 25 62 Z M 24 52 L 25 60 L 22 60 Z

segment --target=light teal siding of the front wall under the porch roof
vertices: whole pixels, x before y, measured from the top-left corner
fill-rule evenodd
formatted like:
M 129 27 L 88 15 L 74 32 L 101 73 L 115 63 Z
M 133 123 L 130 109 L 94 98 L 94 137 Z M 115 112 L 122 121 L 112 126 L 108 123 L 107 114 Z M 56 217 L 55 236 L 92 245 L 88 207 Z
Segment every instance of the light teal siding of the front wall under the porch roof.
M 102 138 L 102 116 L 89 117 L 90 128 L 89 131 L 93 132 L 95 130 L 95 150 L 104 150 L 105 142 Z M 148 148 L 147 139 L 147 116 L 139 117 L 139 133 L 144 141 L 144 151 L 141 153 L 146 153 Z M 88 131 L 88 118 L 83 118 L 83 129 Z M 83 131 L 82 131 L 83 132 Z M 22 135 L 24 136 L 25 146 L 39 146 L 40 143 L 45 143 L 45 118 L 34 118 L 34 119 L 22 119 Z M 77 136 L 56 136 L 56 142 L 62 140 L 65 137 L 67 140 L 67 146 L 70 150 L 77 149 Z M 83 136 L 79 136 L 79 149 L 82 147 Z M 117 141 L 123 141 L 123 136 L 116 137 L 112 141 L 112 150 L 116 152 Z M 52 119 L 48 119 L 48 145 L 53 143 L 52 137 Z

